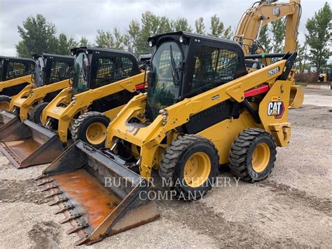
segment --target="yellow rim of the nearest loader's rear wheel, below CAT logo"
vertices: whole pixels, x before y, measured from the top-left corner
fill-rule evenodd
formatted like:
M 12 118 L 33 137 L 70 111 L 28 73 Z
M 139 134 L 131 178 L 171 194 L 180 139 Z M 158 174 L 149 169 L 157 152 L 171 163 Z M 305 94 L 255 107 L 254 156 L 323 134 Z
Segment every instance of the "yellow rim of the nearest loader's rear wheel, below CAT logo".
M 252 168 L 260 173 L 268 166 L 268 162 L 270 161 L 270 147 L 268 144 L 261 143 L 258 144 L 252 154 L 251 165 Z

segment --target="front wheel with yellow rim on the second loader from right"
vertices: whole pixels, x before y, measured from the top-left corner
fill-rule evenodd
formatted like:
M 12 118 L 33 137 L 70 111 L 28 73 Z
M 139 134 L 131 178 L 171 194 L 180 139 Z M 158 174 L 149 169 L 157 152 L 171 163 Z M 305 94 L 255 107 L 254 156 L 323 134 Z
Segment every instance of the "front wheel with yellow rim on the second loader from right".
M 71 126 L 71 138 L 82 140 L 99 149 L 104 147 L 109 118 L 100 112 L 86 112 L 78 116 Z

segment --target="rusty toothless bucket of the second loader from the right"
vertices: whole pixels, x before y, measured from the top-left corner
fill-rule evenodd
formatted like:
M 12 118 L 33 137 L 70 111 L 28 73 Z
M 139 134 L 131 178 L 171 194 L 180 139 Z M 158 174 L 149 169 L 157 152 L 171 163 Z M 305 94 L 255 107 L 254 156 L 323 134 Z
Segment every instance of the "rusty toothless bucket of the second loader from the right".
M 0 151 L 16 168 L 26 168 L 52 162 L 64 148 L 57 134 L 26 120 L 0 137 Z

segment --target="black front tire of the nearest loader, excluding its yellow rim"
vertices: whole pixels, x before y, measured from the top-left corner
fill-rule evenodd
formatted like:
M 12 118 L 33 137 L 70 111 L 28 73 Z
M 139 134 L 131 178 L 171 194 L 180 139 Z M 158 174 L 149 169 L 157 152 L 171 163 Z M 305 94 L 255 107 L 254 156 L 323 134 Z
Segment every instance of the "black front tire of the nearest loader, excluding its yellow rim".
M 209 157 L 210 172 L 207 180 L 199 187 L 191 187 L 184 177 L 184 166 L 193 154 L 203 152 Z M 201 198 L 212 188 L 219 173 L 219 155 L 214 144 L 198 135 L 183 135 L 172 141 L 165 149 L 160 162 L 159 175 L 177 191 L 179 198 L 186 201 Z

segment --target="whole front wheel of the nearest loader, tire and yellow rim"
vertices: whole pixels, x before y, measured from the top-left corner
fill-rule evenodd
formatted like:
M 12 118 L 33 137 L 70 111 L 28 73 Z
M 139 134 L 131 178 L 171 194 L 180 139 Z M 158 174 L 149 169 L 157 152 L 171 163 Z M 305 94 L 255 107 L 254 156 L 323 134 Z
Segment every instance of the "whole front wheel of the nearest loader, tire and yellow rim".
M 171 182 L 184 200 L 201 198 L 212 188 L 218 173 L 219 156 L 214 144 L 198 135 L 174 140 L 162 155 L 159 168 L 159 175 Z

